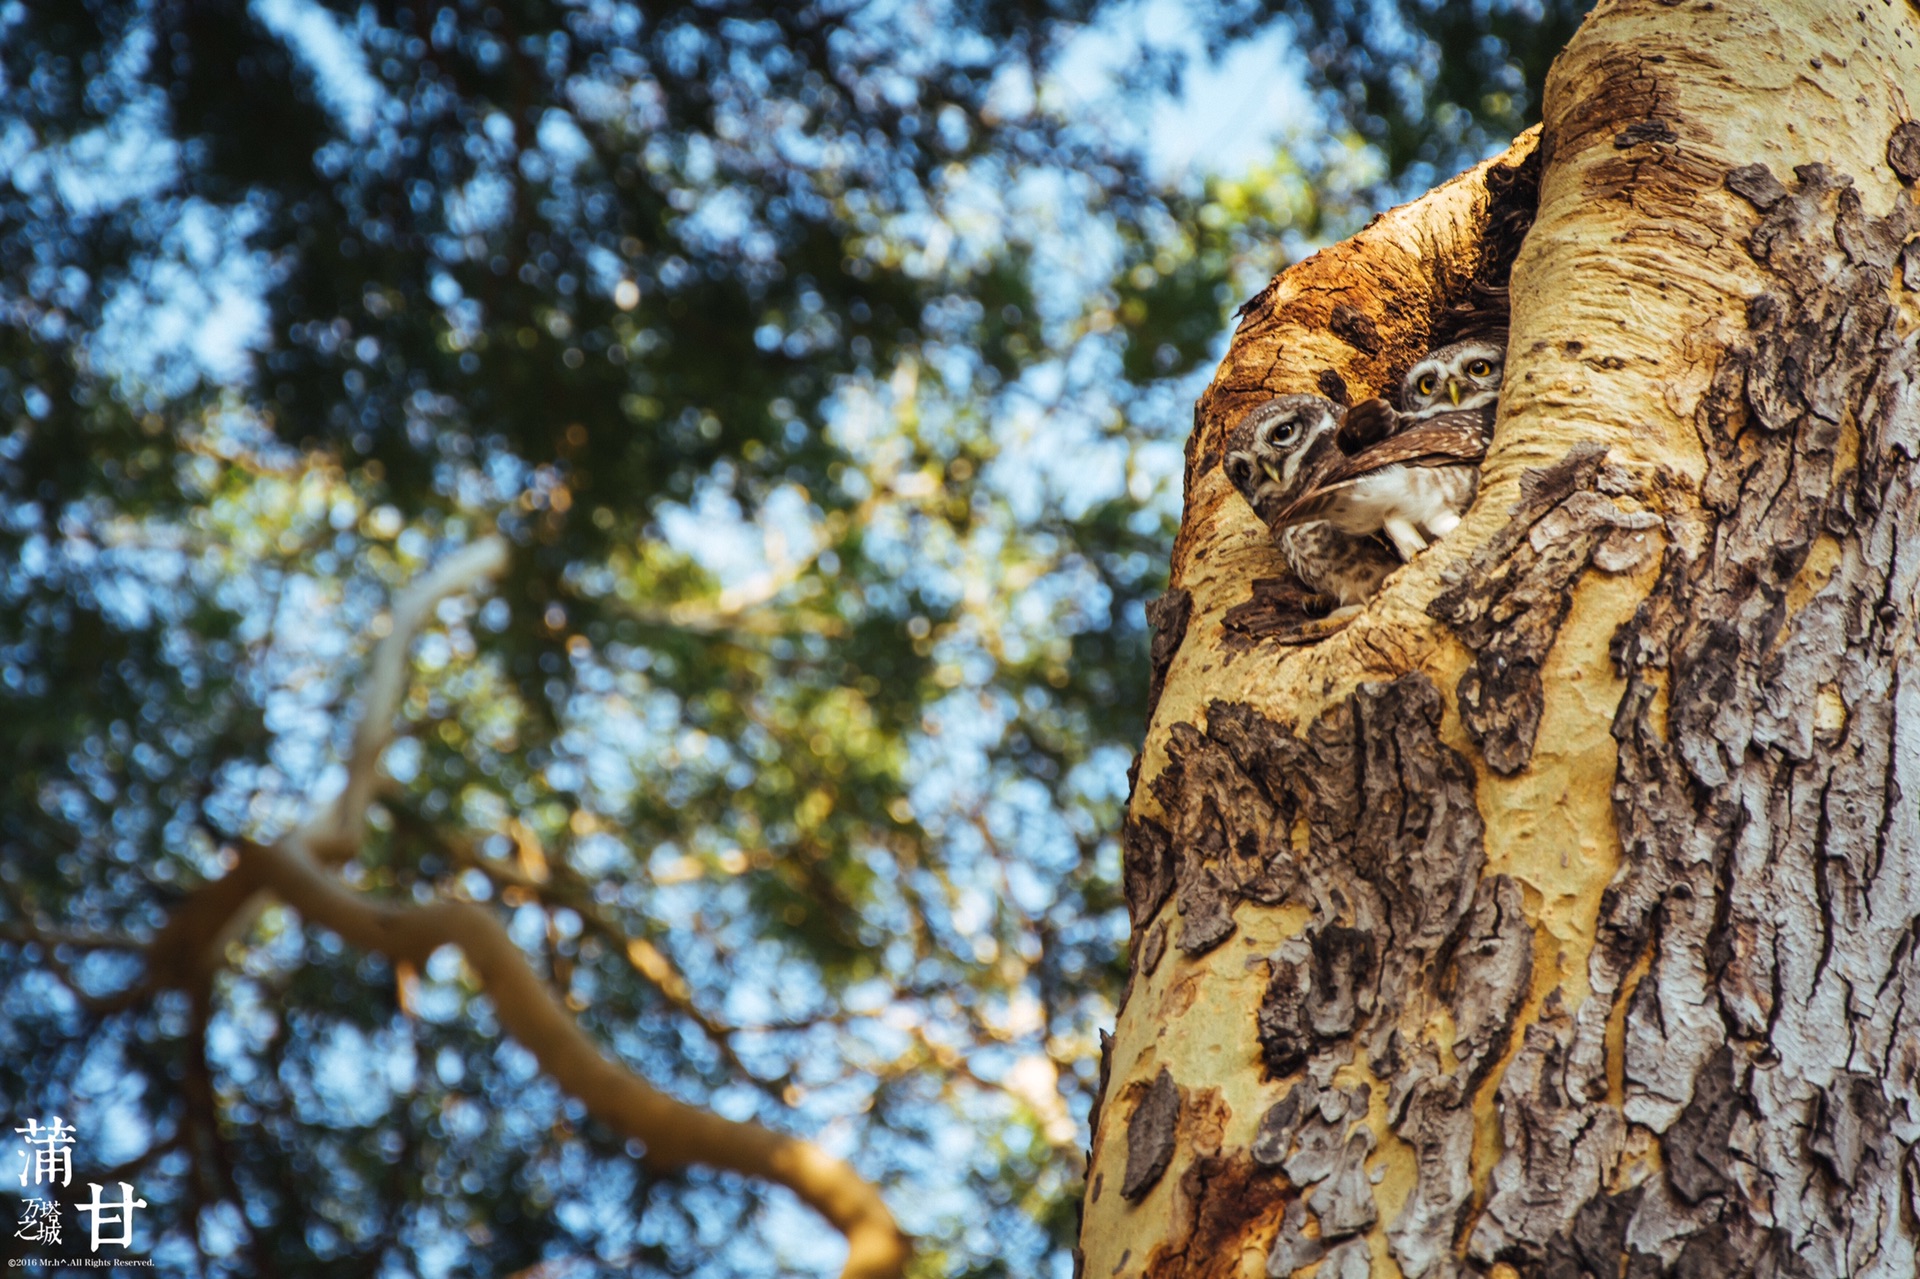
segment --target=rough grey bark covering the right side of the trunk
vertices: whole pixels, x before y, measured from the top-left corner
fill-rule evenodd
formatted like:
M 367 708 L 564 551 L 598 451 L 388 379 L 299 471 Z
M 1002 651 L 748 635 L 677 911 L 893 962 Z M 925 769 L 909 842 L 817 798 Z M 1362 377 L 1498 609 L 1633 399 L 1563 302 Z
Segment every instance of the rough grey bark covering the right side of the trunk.
M 1615 640 L 1624 864 L 1590 962 L 1607 999 L 1528 1029 L 1473 1256 L 1597 1275 L 1586 1214 L 1628 1273 L 1912 1275 L 1920 361 L 1895 290 L 1920 215 L 1870 217 L 1820 165 L 1726 182 L 1763 211 L 1747 248 L 1772 288 L 1701 415 L 1705 511 L 1668 530 Z M 1644 954 L 1615 1108 L 1605 1016 Z M 1609 1195 L 1622 1120 L 1665 1175 Z

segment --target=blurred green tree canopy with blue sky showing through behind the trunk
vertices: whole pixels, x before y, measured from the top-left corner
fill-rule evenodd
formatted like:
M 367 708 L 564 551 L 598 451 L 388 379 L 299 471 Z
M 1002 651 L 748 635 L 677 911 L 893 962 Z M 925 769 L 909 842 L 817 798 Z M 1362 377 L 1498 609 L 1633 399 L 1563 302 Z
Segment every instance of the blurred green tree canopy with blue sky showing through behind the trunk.
M 1194 378 L 1523 127 L 1584 6 L 1183 10 L 1284 23 L 1327 109 L 1204 182 L 1054 90 L 1114 8 L 0 6 L 0 1098 L 163 1271 L 833 1264 L 643 1177 L 451 956 L 269 910 L 142 985 L 338 785 L 392 591 L 499 530 L 348 881 L 493 903 L 636 1072 L 887 1187 L 920 1273 L 1062 1273 Z

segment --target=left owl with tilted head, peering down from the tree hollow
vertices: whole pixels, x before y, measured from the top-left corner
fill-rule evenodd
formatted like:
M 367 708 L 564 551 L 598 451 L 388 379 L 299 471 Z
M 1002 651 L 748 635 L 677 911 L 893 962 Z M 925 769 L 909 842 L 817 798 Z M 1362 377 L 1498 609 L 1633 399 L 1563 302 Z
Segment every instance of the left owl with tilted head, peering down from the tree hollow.
M 1357 609 L 1380 590 L 1400 561 L 1377 538 L 1354 536 L 1325 520 L 1286 522 L 1283 513 L 1346 457 L 1336 434 L 1344 409 L 1319 396 L 1281 396 L 1248 413 L 1227 436 L 1221 467 L 1300 582 L 1334 609 Z

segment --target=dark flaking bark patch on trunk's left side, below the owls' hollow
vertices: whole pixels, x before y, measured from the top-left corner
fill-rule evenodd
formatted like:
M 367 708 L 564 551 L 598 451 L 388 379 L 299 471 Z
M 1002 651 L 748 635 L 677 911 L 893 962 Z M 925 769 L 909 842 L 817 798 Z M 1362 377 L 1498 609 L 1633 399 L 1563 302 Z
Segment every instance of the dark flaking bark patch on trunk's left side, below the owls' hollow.
M 1379 1218 L 1367 1175 L 1377 1139 L 1363 1123 L 1371 1095 L 1332 1085 L 1365 1062 L 1396 1081 L 1390 1122 L 1421 1162 L 1419 1191 L 1390 1231 L 1407 1273 L 1438 1260 L 1467 1206 L 1471 1098 L 1532 970 L 1519 889 L 1484 874 L 1473 785 L 1440 741 L 1440 695 L 1425 676 L 1361 686 L 1306 737 L 1215 703 L 1206 732 L 1175 726 L 1154 780 L 1171 830 L 1139 822 L 1127 841 L 1135 916 L 1152 918 L 1179 880 L 1187 953 L 1225 941 L 1242 901 L 1313 912 L 1304 933 L 1250 960 L 1267 972 L 1256 1012 L 1265 1070 L 1306 1077 L 1263 1116 L 1225 1185 L 1279 1170 L 1304 1195 L 1319 1241 L 1369 1229 Z M 1296 822 L 1309 832 L 1298 862 L 1286 843 Z M 1450 1066 L 1409 1056 L 1402 1033 L 1436 1010 L 1457 1027 Z M 1165 1170 L 1177 1122 L 1175 1081 L 1162 1070 L 1127 1116 L 1129 1200 Z M 1298 1235 L 1283 1248 L 1313 1252 Z

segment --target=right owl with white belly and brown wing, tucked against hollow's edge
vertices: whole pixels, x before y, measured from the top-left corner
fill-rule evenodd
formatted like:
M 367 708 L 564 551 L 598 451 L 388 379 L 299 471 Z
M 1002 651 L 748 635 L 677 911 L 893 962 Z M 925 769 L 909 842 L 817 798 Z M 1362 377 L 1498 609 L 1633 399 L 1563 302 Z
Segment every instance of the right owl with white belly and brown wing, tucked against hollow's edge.
M 1382 532 L 1402 559 L 1453 532 L 1480 488 L 1503 365 L 1492 342 L 1455 342 L 1413 365 L 1400 384 L 1402 409 L 1384 399 L 1354 405 L 1334 436 L 1340 461 L 1296 488 L 1277 522 Z

